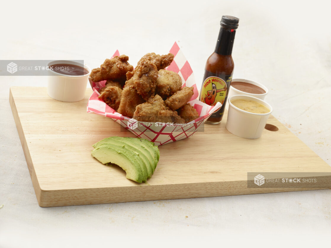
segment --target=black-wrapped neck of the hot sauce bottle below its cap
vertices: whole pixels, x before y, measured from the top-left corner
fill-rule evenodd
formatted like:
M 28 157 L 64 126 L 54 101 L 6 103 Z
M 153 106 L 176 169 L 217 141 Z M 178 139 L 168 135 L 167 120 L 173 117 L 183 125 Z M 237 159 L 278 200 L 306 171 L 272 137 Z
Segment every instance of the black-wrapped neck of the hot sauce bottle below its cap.
M 231 32 L 231 30 L 233 31 Z M 236 29 L 230 29 L 221 26 L 215 47 L 215 53 L 218 53 L 220 55 L 232 54 L 235 34 L 236 34 Z

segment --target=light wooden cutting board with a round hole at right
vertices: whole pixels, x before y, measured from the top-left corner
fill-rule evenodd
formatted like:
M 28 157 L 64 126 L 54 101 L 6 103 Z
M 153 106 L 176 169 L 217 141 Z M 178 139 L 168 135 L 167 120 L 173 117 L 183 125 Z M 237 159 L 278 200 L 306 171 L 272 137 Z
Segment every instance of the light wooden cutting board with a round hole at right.
M 12 87 L 9 101 L 37 200 L 42 207 L 244 195 L 302 188 L 248 188 L 247 173 L 331 172 L 331 167 L 273 116 L 255 140 L 221 124 L 160 146 L 160 161 L 147 183 L 125 178 L 118 167 L 91 157 L 92 144 L 109 136 L 135 137 L 110 118 L 88 114 L 92 90 L 79 102 L 61 102 L 47 88 Z

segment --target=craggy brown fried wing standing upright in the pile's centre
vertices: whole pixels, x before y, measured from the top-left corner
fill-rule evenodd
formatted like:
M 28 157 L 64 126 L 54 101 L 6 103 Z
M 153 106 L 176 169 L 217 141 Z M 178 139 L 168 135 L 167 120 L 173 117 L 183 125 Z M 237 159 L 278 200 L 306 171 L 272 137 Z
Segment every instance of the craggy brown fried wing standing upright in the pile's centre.
M 131 74 L 129 73 L 130 76 Z M 157 78 L 158 70 L 156 66 L 151 61 L 143 59 L 134 69 L 133 76 L 126 81 L 125 87 L 133 85 L 138 94 L 147 101 L 155 94 Z

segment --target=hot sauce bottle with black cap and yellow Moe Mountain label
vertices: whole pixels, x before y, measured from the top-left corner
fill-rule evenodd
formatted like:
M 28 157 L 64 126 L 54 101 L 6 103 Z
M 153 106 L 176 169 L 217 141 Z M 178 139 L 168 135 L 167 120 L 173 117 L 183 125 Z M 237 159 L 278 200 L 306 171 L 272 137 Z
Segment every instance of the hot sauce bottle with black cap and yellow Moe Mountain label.
M 231 54 L 238 23 L 236 17 L 222 16 L 215 51 L 206 62 L 200 101 L 211 106 L 222 103 L 222 107 L 205 122 L 208 124 L 219 124 L 223 118 L 234 68 Z

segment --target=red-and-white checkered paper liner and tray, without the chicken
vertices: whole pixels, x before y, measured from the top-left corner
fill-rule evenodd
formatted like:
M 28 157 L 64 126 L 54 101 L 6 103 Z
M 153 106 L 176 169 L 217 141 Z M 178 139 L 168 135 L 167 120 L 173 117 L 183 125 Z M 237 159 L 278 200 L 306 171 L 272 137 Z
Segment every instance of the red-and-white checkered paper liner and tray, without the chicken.
M 217 102 L 215 106 L 209 106 L 197 100 L 199 93 L 195 84 L 193 71 L 176 42 L 173 44 L 169 52 L 174 55 L 174 59 L 166 69 L 179 74 L 183 81 L 182 87 L 193 87 L 194 95 L 189 103 L 197 110 L 200 116 L 198 119 L 188 124 L 161 124 L 138 122 L 137 120 L 122 116 L 98 98 L 100 95 L 98 89 L 105 87 L 106 80 L 101 82 L 90 82 L 91 87 L 93 88 L 93 93 L 87 103 L 87 113 L 96 113 L 98 115 L 110 117 L 136 136 L 150 140 L 154 142 L 155 145 L 164 145 L 193 135 L 208 117 L 222 106 L 222 104 Z M 119 56 L 118 50 L 114 53 L 113 57 L 115 56 Z

